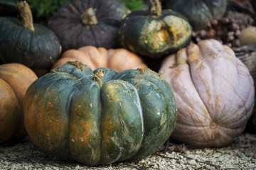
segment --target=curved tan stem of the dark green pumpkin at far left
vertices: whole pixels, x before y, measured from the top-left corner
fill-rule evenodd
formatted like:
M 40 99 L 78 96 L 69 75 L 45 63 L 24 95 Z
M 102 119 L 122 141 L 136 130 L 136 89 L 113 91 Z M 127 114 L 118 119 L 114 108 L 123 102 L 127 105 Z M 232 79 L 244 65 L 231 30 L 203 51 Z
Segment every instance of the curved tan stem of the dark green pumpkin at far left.
M 28 3 L 26 1 L 18 2 L 16 8 L 18 10 L 18 14 L 21 16 L 21 26 L 23 28 L 28 28 L 31 31 L 35 31 L 32 12 Z

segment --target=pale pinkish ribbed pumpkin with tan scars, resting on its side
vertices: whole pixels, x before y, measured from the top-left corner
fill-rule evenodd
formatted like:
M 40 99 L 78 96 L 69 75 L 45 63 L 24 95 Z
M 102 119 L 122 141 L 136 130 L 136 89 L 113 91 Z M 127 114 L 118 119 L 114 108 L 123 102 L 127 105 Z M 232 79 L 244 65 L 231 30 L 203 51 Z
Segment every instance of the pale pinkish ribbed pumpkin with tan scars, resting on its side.
M 255 87 L 250 72 L 227 45 L 217 40 L 191 44 L 159 70 L 176 99 L 175 140 L 196 147 L 224 147 L 245 130 Z

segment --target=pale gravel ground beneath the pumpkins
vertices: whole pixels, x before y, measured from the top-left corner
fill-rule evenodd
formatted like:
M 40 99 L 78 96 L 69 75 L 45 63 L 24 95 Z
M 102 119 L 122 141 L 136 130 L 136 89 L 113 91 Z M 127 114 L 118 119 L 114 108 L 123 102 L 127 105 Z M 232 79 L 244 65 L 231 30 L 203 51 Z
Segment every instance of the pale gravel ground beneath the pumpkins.
M 28 137 L 0 146 L 0 169 L 256 169 L 256 135 L 244 133 L 228 147 L 193 148 L 169 140 L 139 162 L 85 166 L 42 152 Z

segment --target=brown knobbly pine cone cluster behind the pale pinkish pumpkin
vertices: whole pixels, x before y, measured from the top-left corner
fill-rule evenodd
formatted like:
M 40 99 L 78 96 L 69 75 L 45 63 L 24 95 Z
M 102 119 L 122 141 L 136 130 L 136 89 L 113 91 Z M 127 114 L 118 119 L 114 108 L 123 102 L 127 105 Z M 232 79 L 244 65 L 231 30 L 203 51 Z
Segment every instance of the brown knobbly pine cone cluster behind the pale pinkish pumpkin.
M 240 33 L 247 26 L 252 26 L 254 20 L 245 13 L 228 11 L 223 18 L 210 21 L 203 30 L 193 33 L 193 41 L 214 38 L 229 47 L 240 46 Z

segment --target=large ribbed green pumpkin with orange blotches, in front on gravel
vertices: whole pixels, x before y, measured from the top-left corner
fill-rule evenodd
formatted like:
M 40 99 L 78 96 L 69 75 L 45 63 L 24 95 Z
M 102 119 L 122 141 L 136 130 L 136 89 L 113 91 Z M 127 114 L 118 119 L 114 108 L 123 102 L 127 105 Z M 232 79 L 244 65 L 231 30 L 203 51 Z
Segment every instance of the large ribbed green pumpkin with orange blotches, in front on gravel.
M 68 62 L 31 84 L 24 101 L 31 140 L 55 157 L 87 165 L 156 152 L 176 123 L 169 84 L 150 69 L 95 72 Z

